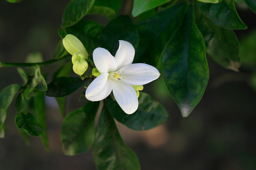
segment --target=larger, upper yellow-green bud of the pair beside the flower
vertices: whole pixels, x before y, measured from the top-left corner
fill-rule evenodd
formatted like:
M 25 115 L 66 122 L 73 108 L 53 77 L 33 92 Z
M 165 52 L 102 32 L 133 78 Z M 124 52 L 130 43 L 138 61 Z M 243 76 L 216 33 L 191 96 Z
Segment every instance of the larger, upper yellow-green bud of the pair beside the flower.
M 89 54 L 87 53 L 86 48 L 84 48 L 80 40 L 75 36 L 68 34 L 66 35 L 66 37 L 63 39 L 62 42 L 67 52 L 70 53 L 71 55 L 74 55 L 74 53 L 80 52 L 86 57 L 86 59 L 88 59 Z

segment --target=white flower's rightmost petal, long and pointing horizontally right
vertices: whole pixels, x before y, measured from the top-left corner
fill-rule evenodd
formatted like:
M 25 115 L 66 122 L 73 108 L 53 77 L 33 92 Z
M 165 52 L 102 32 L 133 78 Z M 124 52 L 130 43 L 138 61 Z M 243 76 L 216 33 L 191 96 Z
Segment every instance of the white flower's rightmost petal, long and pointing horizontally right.
M 144 85 L 160 76 L 156 68 L 143 63 L 129 64 L 119 71 L 121 80 L 131 85 Z

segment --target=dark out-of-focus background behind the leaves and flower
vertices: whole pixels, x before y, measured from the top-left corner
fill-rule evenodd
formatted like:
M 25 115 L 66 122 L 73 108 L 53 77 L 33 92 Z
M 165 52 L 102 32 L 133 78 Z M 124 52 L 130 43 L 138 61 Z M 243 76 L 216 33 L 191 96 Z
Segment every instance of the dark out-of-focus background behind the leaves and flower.
M 25 62 L 33 52 L 40 52 L 45 61 L 52 59 L 68 2 L 0 1 L 0 60 Z M 226 70 L 208 57 L 208 86 L 187 118 L 182 117 L 160 77 L 145 85 L 143 91 L 164 105 L 168 120 L 148 131 L 131 130 L 117 122 L 124 141 L 138 156 L 141 169 L 256 169 L 256 15 L 243 1 L 236 2 L 236 7 L 248 26 L 247 30 L 235 31 L 241 45 L 239 72 Z M 86 18 L 103 26 L 109 22 L 103 16 Z M 0 80 L 0 90 L 22 83 L 17 68 L 1 68 Z M 67 113 L 84 105 L 86 99 L 78 101 L 82 91 L 68 97 Z M 40 138 L 30 137 L 29 145 L 22 139 L 14 122 L 16 114 L 13 102 L 6 119 L 6 136 L 0 139 L 1 170 L 96 169 L 91 150 L 75 156 L 63 154 L 63 119 L 54 98 L 46 97 L 49 153 Z

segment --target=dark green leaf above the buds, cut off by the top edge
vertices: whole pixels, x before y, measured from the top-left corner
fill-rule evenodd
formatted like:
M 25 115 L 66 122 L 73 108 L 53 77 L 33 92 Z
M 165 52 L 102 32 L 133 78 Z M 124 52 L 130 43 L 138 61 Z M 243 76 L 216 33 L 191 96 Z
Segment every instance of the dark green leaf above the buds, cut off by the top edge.
M 81 20 L 93 6 L 94 1 L 95 0 L 71 0 L 64 10 L 61 26 L 70 27 Z

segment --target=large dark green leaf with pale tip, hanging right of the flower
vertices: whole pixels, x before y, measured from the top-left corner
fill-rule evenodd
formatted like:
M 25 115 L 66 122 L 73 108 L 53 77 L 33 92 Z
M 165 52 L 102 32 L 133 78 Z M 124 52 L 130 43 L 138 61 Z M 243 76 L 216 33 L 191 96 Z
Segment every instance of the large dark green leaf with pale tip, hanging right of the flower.
M 195 25 L 192 6 L 163 52 L 162 68 L 170 94 L 187 117 L 201 100 L 209 79 L 204 38 Z

